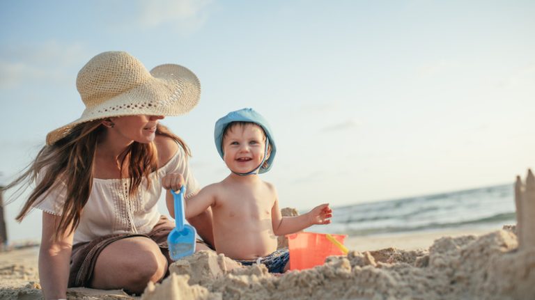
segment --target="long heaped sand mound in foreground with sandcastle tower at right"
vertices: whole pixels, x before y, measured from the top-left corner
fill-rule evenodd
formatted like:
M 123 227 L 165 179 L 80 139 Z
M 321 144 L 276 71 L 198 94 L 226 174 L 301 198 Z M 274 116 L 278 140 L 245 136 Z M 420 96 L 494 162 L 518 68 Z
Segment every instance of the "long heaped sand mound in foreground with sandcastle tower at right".
M 141 299 L 490 299 L 535 295 L 535 177 L 517 178 L 516 230 L 442 237 L 428 249 L 387 248 L 327 258 L 324 265 L 272 276 L 263 265 L 228 268 L 200 251 Z M 517 232 L 515 235 L 514 232 Z

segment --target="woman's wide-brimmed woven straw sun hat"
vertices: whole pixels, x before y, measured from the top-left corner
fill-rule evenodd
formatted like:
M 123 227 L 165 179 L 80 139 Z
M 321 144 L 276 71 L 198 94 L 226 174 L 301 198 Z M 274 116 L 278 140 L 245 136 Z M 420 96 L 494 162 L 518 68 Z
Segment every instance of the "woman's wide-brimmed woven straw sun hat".
M 199 102 L 201 84 L 181 65 L 158 65 L 148 70 L 126 52 L 103 52 L 78 72 L 76 87 L 86 109 L 68 125 L 47 134 L 56 143 L 84 122 L 114 116 L 178 116 Z

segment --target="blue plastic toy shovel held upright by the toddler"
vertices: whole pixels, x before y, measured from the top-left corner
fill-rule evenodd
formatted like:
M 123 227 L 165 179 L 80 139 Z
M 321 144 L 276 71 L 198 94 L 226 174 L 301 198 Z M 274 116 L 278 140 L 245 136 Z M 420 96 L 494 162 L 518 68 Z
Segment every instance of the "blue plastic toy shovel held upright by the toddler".
M 175 200 L 175 229 L 169 232 L 167 244 L 169 245 L 169 256 L 172 260 L 178 260 L 195 252 L 196 231 L 191 225 L 185 224 L 184 217 L 184 194 L 185 186 L 180 188 L 178 194 L 171 190 Z

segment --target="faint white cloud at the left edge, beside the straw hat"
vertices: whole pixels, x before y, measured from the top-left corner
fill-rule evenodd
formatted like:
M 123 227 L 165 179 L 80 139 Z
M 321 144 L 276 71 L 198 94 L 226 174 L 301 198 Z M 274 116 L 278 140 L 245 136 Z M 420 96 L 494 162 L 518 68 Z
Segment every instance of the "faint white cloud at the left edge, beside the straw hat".
M 87 58 L 82 45 L 55 41 L 40 45 L 0 46 L 0 89 L 17 88 L 30 82 L 72 81 L 71 68 Z

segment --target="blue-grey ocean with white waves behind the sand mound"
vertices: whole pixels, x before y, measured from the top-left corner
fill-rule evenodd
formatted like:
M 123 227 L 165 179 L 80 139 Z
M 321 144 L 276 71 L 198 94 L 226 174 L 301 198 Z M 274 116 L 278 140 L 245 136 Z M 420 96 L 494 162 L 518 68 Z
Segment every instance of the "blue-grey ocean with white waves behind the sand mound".
M 332 223 L 307 231 L 380 235 L 515 224 L 513 184 L 332 207 Z

